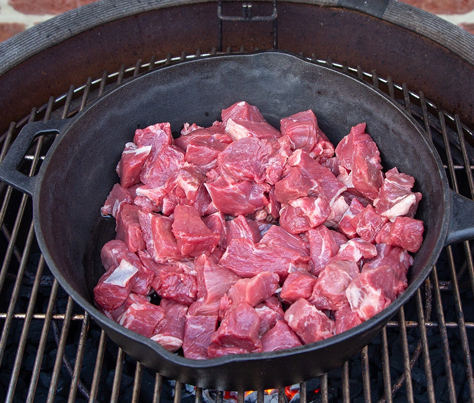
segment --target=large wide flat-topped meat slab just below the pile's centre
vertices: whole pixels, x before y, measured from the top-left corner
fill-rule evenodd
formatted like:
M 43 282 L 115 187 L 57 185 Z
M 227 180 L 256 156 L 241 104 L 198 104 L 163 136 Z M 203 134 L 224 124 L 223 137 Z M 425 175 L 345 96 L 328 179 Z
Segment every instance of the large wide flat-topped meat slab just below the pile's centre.
M 219 264 L 243 278 L 270 272 L 276 273 L 283 281 L 291 269 L 298 266 L 300 258 L 300 253 L 288 248 L 254 244 L 250 239 L 236 238 L 227 246 Z

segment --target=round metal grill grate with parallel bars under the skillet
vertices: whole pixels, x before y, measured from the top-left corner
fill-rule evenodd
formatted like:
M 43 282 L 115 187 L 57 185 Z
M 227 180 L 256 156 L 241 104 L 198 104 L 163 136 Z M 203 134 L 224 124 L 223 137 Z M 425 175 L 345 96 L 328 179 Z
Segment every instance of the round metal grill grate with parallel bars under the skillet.
M 241 49 L 242 50 L 242 49 Z M 230 51 L 230 50 L 228 50 Z M 211 51 L 211 54 L 215 50 Z M 13 138 L 29 121 L 66 118 L 124 80 L 156 66 L 180 59 L 205 57 L 168 55 L 165 60 L 138 60 L 135 66 L 103 72 L 67 94 L 51 97 L 0 137 L 4 158 Z M 422 92 L 397 85 L 390 77 L 364 72 L 345 63 L 313 61 L 359 77 L 404 105 L 432 137 L 445 164 L 451 187 L 474 197 L 472 161 L 473 131 Z M 25 156 L 30 175 L 37 172 L 50 140 L 38 138 Z M 248 400 L 245 391 L 230 394 L 183 385 L 164 379 L 134 362 L 117 348 L 68 297 L 50 275 L 36 244 L 31 200 L 10 186 L 0 184 L 2 207 L 0 250 L 0 399 L 11 401 L 215 401 L 239 403 L 290 399 L 284 389 L 273 395 L 264 390 Z M 360 356 L 302 383 L 292 402 L 311 401 L 471 401 L 474 378 L 471 351 L 474 329 L 474 264 L 471 244 L 448 246 L 429 279 L 398 312 Z M 271 387 L 272 385 L 268 385 Z M 255 396 L 256 395 L 256 396 Z

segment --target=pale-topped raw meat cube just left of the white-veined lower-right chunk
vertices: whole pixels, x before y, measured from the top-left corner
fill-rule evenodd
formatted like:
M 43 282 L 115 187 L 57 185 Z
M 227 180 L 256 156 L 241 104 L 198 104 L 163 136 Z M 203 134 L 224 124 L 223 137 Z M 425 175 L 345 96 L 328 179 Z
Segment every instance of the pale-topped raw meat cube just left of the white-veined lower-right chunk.
M 320 310 L 337 311 L 348 305 L 345 290 L 351 280 L 359 274 L 356 262 L 338 260 L 326 264 L 319 274 L 308 301 Z

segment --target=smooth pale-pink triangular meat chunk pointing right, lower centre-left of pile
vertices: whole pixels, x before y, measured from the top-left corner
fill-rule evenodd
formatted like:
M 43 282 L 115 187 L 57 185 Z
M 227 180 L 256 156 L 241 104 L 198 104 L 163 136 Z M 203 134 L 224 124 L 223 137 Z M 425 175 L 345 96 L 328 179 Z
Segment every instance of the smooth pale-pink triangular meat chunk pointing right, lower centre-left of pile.
M 196 282 L 198 300 L 210 304 L 227 293 L 241 277 L 202 255 L 196 259 Z

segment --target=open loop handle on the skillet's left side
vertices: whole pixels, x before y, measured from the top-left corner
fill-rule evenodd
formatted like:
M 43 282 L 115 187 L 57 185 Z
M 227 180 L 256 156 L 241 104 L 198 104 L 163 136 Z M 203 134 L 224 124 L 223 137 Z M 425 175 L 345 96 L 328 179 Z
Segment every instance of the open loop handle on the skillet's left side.
M 60 132 L 69 119 L 46 120 L 26 124 L 13 142 L 5 159 L 0 164 L 0 179 L 23 193 L 33 195 L 36 176 L 28 176 L 18 171 L 18 167 L 35 138 L 47 132 Z

